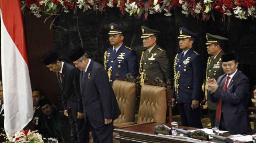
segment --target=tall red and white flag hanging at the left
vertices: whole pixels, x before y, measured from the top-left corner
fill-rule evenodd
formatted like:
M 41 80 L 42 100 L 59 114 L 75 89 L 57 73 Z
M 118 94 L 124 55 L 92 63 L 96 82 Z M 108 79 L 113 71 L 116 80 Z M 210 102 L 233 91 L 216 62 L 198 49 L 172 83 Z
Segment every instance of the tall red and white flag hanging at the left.
M 20 0 L 0 0 L 4 128 L 8 136 L 33 118 L 27 50 Z

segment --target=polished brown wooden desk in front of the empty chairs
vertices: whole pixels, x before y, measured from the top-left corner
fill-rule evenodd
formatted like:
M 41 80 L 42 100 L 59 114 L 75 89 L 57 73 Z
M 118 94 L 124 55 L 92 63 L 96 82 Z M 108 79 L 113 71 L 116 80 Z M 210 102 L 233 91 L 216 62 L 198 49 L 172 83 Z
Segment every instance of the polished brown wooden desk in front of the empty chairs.
M 135 125 L 132 127 L 125 127 L 122 129 L 114 129 L 114 132 L 118 132 L 119 135 L 115 139 L 120 143 L 198 143 L 200 141 L 192 139 L 174 138 L 170 136 L 160 136 L 154 134 L 154 127 L 162 125 L 163 123 L 145 123 Z M 171 127 L 171 124 L 165 124 Z M 179 128 L 187 130 L 195 130 L 197 128 L 179 126 Z

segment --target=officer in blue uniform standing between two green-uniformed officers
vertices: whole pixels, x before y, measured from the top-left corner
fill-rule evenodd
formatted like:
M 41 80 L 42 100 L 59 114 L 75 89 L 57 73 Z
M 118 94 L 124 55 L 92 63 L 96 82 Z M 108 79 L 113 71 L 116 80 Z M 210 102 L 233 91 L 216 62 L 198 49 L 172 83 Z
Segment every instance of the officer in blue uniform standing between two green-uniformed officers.
M 203 62 L 193 48 L 193 32 L 179 29 L 179 46 L 182 50 L 174 59 L 174 86 L 172 101 L 176 100 L 183 126 L 202 128 L 200 101 L 203 97 Z

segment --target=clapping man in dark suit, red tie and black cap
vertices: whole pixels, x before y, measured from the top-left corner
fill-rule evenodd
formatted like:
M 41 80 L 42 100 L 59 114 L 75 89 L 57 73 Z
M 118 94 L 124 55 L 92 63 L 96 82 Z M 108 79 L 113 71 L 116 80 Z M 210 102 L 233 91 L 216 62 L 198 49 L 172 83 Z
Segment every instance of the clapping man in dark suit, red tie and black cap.
M 222 56 L 222 68 L 226 73 L 209 79 L 207 88 L 212 92 L 210 100 L 217 102 L 215 126 L 232 134 L 243 134 L 251 130 L 247 116 L 249 79 L 238 71 L 238 62 L 233 53 Z

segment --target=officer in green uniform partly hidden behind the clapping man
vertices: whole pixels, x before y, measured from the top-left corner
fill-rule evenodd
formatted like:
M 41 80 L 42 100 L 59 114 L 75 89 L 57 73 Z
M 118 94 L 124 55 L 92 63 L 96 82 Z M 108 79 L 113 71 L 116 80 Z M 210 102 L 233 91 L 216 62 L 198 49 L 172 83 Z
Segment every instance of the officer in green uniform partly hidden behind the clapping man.
M 205 45 L 207 45 L 207 52 L 211 56 L 207 61 L 205 83 L 208 79 L 217 80 L 218 77 L 224 74 L 222 70 L 222 55 L 224 52 L 222 49 L 224 48 L 225 40 L 228 40 L 227 38 L 209 33 L 206 34 L 206 39 L 207 43 L 205 43 Z M 207 90 L 207 86 L 205 86 L 205 105 L 207 105 L 211 126 L 214 127 L 216 117 L 216 103 L 211 102 L 211 100 L 207 100 L 209 99 L 209 95 L 210 93 Z

